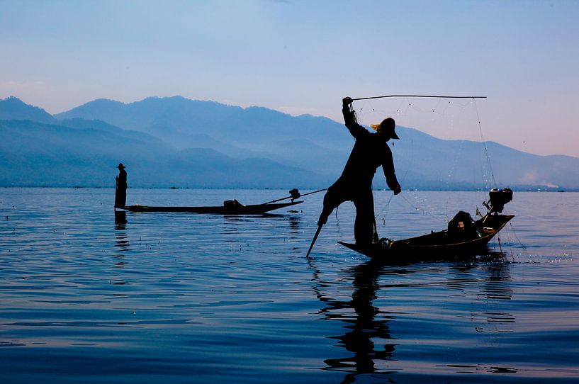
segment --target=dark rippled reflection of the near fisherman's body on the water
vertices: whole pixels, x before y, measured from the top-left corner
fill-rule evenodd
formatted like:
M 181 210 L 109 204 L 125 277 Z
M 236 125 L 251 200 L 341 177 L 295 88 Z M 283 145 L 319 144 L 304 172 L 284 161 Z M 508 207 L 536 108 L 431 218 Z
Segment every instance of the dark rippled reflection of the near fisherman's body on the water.
M 352 272 L 354 274 L 352 300 L 332 300 L 321 294 L 318 295 L 320 300 L 327 303 L 327 307 L 320 311 L 327 320 L 341 320 L 347 323 L 344 326 L 347 329 L 345 334 L 331 338 L 339 340 L 337 346 L 347 349 L 353 356 L 329 358 L 324 361 L 329 366 L 326 369 L 350 372 L 342 383 L 353 383 L 356 375 L 378 371 L 375 366 L 376 361 L 390 360 L 395 347 L 395 344 L 386 342 L 381 349 L 374 343 L 374 340 L 392 339 L 388 327 L 390 317 L 386 315 L 387 312 L 373 305 L 376 290 L 378 290 L 381 266 L 376 262 L 368 261 L 355 266 Z M 354 310 L 353 317 L 344 316 L 344 310 L 349 309 Z

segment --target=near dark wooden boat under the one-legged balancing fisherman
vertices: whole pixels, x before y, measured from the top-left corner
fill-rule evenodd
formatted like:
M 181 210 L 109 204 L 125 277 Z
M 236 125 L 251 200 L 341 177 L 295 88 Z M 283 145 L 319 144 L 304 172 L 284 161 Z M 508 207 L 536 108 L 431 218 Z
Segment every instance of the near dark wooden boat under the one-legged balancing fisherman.
M 442 230 L 409 239 L 380 241 L 364 246 L 339 242 L 344 247 L 385 261 L 442 260 L 482 255 L 487 244 L 515 215 L 487 214 L 472 222 L 468 230 Z

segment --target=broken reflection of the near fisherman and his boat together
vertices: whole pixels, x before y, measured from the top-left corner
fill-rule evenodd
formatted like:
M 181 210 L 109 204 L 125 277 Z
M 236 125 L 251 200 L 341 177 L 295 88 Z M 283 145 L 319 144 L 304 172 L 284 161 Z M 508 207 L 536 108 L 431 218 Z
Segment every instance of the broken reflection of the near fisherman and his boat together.
M 434 269 L 433 269 L 434 266 Z M 456 322 L 463 322 L 470 319 L 473 323 L 470 328 L 472 332 L 488 332 L 496 334 L 498 332 L 512 332 L 515 317 L 501 309 L 500 301 L 510 300 L 512 298 L 512 289 L 509 282 L 510 264 L 502 261 L 486 262 L 468 262 L 456 264 L 417 264 L 415 266 L 386 266 L 377 261 L 366 261 L 352 268 L 345 269 L 344 275 L 347 281 L 352 281 L 352 296 L 348 299 L 335 299 L 327 295 L 327 291 L 332 288 L 332 283 L 325 282 L 322 279 L 320 269 L 315 267 L 313 262 L 310 263 L 313 269 L 313 283 L 315 294 L 323 303 L 324 307 L 319 313 L 324 316 L 325 320 L 338 320 L 343 322 L 343 334 L 330 336 L 328 338 L 337 340 L 335 346 L 339 347 L 339 354 L 346 355 L 338 358 L 327 358 L 324 362 L 325 368 L 331 371 L 343 371 L 346 373 L 342 383 L 353 383 L 356 376 L 367 373 L 380 373 L 388 375 L 393 380 L 393 374 L 400 371 L 398 366 L 404 366 L 405 363 L 388 363 L 398 361 L 395 356 L 396 346 L 404 344 L 403 340 L 397 340 L 396 336 L 391 333 L 391 322 L 396 322 L 397 329 L 404 328 L 404 315 L 400 312 L 389 312 L 387 308 L 375 305 L 378 298 L 379 290 L 388 288 L 400 288 L 405 286 L 409 290 L 410 300 L 415 295 L 416 288 L 440 288 L 440 276 L 444 276 L 442 286 L 453 292 L 450 296 L 463 296 L 463 310 L 456 315 Z M 434 276 L 432 275 L 434 271 Z M 406 284 L 396 283 L 395 286 L 386 286 L 380 284 L 381 276 L 388 274 L 400 276 L 403 274 L 413 273 L 412 282 Z M 422 273 L 424 273 L 423 276 Z M 343 290 L 339 291 L 343 292 Z M 337 296 L 340 294 L 337 293 Z M 385 292 L 380 292 L 381 303 L 384 303 Z M 387 300 L 387 299 L 386 299 Z M 451 301 L 456 298 L 449 299 Z M 422 305 L 421 303 L 409 303 L 412 305 Z M 399 308 L 398 308 L 399 310 Z M 470 316 L 463 315 L 463 312 L 470 312 Z M 428 316 L 428 315 L 425 315 Z M 400 323 L 398 323 L 400 322 Z M 446 324 L 439 324 L 439 327 L 445 327 Z M 468 329 L 468 327 L 467 327 Z M 342 350 L 345 349 L 347 354 Z M 464 356 L 467 360 L 473 358 L 480 361 L 480 357 L 473 351 L 473 356 Z M 420 357 L 417 357 L 420 359 Z M 425 361 L 425 363 L 429 363 Z M 459 366 L 448 365 L 451 369 Z M 468 370 L 468 365 L 461 365 L 459 371 Z M 482 366 L 478 363 L 471 365 L 473 371 L 488 371 L 488 366 Z M 516 372 L 512 367 L 498 367 L 493 365 L 493 372 Z

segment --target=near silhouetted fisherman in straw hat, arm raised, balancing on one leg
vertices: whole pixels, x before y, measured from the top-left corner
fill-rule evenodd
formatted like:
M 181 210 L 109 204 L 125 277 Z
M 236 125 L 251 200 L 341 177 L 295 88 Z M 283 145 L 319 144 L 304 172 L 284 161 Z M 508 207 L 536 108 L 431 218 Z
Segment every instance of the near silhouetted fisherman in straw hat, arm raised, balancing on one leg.
M 338 205 L 344 201 L 352 201 L 356 206 L 356 221 L 354 222 L 356 244 L 371 244 L 378 239 L 372 195 L 372 179 L 378 166 L 382 166 L 386 183 L 394 194 L 398 195 L 402 191 L 396 179 L 392 152 L 386 144 L 388 140 L 400 139 L 400 137 L 394 130 L 393 118 L 386 118 L 380 124 L 371 125 L 376 133 L 371 133 L 359 125 L 356 112 L 352 108 L 352 98 L 342 99 L 342 113 L 346 127 L 356 142 L 344 166 L 342 176 L 339 176 L 339 179 L 327 188 L 324 208 L 317 222 L 318 230 L 327 222 L 327 218 Z

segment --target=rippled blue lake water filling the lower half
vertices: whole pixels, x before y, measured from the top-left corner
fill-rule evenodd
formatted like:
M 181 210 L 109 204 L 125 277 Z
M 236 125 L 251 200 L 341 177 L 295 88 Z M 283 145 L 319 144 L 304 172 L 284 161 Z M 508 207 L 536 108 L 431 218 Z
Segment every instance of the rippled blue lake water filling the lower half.
M 0 383 L 579 382 L 579 193 L 515 192 L 500 255 L 407 265 L 337 244 L 348 203 L 305 259 L 322 194 L 266 217 L 116 216 L 112 189 L 0 189 Z M 442 230 L 486 198 L 376 191 L 378 232 Z

